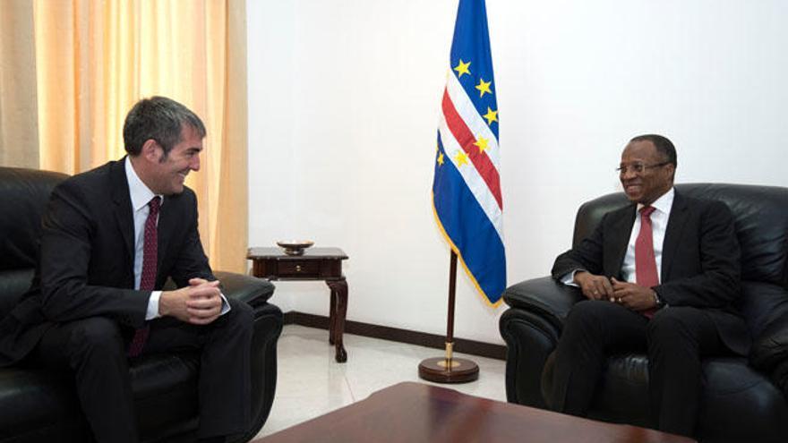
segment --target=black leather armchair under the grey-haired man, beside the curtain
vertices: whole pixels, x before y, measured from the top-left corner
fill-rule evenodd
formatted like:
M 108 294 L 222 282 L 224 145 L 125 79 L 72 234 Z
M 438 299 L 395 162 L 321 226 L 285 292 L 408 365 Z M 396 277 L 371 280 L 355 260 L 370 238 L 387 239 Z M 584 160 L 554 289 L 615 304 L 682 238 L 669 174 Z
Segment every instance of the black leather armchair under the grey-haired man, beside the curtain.
M 40 217 L 49 193 L 66 175 L 0 167 L 0 318 L 30 286 L 38 251 Z M 216 272 L 222 291 L 249 303 L 255 313 L 250 429 L 247 441 L 268 418 L 277 382 L 277 341 L 282 311 L 270 304 L 267 280 Z M 132 363 L 132 387 L 143 441 L 193 441 L 197 428 L 194 354 L 151 355 Z M 101 395 L 96 393 L 97 396 Z M 0 441 L 84 442 L 90 429 L 68 374 L 15 366 L 0 368 Z

